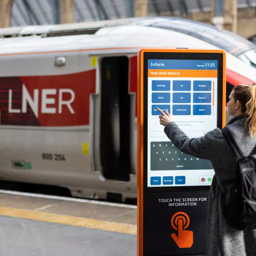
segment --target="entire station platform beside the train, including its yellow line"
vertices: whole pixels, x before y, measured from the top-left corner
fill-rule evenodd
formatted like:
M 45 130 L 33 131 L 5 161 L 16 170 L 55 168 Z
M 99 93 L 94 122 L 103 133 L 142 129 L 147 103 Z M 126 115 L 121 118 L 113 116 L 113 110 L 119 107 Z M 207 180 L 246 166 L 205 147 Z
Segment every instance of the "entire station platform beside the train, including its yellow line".
M 0 190 L 0 255 L 136 256 L 136 206 Z

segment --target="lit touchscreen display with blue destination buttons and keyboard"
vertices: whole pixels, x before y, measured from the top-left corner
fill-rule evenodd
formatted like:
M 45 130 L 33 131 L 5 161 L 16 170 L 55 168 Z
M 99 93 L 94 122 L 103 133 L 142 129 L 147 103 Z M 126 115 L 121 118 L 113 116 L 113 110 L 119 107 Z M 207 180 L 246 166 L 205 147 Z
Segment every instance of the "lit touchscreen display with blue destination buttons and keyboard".
M 217 60 L 148 60 L 148 187 L 210 185 L 210 161 L 182 153 L 164 133 L 168 110 L 189 138 L 217 127 Z

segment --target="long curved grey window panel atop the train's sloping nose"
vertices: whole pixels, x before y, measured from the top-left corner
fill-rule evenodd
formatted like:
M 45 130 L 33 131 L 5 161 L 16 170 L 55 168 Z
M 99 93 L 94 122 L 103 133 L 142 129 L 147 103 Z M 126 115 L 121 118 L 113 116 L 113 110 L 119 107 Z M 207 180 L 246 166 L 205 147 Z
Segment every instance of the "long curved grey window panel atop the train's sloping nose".
M 155 22 L 150 26 L 168 29 L 190 35 L 215 45 L 226 52 L 237 56 L 242 52 L 256 49 L 256 45 L 249 40 L 230 31 L 219 30 L 217 27 L 193 20 L 169 18 L 168 21 Z

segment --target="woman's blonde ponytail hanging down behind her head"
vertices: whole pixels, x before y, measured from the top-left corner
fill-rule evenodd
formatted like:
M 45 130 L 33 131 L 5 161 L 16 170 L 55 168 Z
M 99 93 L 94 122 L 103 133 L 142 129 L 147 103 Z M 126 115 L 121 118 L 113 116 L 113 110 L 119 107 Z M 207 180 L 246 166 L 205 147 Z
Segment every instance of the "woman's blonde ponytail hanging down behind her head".
M 249 116 L 246 123 L 249 124 L 249 131 L 256 137 L 256 85 L 249 88 L 248 102 L 246 103 L 246 114 Z

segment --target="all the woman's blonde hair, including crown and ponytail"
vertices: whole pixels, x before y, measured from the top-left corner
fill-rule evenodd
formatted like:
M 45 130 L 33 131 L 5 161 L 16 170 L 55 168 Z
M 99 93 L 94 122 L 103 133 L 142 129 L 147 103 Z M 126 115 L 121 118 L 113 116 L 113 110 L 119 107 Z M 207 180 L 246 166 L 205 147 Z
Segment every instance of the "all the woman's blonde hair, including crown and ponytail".
M 256 84 L 240 84 L 233 88 L 234 99 L 239 100 L 242 112 L 248 115 L 245 126 L 256 137 Z

